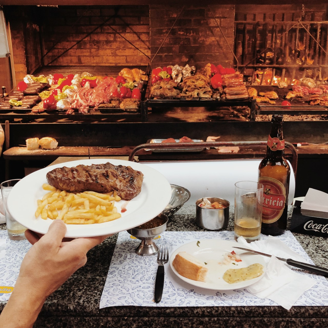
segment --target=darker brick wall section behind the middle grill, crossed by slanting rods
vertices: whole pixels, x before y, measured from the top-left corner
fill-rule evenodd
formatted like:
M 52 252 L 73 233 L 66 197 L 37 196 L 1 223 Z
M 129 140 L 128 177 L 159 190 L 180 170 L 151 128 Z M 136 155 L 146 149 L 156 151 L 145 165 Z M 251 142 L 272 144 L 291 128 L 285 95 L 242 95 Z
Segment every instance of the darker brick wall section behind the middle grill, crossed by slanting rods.
M 150 6 L 150 46 L 154 57 L 170 31 L 182 6 Z M 213 14 L 233 48 L 235 6 L 213 5 Z M 208 6 L 185 6 L 162 48 L 154 57 L 152 66 L 195 65 L 209 62 L 231 66 L 233 55 L 222 37 Z

